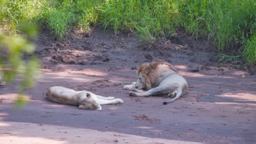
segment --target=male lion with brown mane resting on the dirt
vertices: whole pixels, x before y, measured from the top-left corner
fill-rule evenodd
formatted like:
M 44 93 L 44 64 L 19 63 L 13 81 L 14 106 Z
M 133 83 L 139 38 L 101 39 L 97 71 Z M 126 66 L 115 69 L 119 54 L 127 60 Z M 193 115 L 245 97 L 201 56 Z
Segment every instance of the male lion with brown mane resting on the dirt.
M 183 96 L 187 92 L 188 83 L 170 63 L 151 62 L 138 66 L 137 81 L 125 85 L 124 89 L 131 89 L 130 96 L 149 97 L 150 95 L 168 95 L 170 101 L 166 105 Z

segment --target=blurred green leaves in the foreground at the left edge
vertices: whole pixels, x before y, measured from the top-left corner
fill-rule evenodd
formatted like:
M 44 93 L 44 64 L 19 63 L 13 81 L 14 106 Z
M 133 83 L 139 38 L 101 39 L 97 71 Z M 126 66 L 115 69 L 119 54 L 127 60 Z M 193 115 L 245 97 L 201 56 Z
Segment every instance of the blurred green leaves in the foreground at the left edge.
M 19 31 L 27 35 L 28 38 L 34 38 L 37 34 L 37 27 L 29 23 L 21 22 L 19 28 Z M 0 29 L 0 77 L 7 83 L 13 82 L 16 77 L 21 79 L 18 88 L 19 96 L 14 107 L 21 107 L 26 104 L 24 91 L 34 85 L 36 76 L 38 76 L 36 74 L 39 69 L 38 58 L 30 58 L 30 54 L 33 52 L 34 45 L 23 35 L 7 35 Z M 24 53 L 28 54 L 27 61 L 24 60 Z

